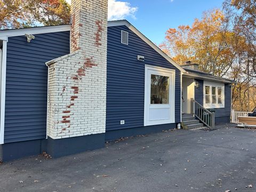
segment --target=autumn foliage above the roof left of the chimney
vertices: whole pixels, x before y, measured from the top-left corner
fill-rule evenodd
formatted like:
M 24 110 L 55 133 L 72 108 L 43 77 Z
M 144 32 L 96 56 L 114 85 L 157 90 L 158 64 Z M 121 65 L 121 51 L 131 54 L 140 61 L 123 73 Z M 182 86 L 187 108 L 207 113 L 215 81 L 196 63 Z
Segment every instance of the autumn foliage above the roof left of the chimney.
M 0 0 L 0 29 L 62 25 L 69 20 L 65 0 Z

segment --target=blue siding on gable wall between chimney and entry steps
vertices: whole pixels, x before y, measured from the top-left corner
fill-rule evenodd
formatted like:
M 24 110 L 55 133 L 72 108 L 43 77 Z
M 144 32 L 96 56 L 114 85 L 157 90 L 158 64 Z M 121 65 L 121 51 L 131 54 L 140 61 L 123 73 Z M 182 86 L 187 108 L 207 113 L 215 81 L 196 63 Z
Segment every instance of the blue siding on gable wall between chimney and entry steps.
M 129 45 L 121 44 L 121 30 L 129 31 Z M 176 70 L 175 122 L 180 122 L 180 71 L 127 27 L 108 27 L 107 131 L 143 126 L 145 65 Z

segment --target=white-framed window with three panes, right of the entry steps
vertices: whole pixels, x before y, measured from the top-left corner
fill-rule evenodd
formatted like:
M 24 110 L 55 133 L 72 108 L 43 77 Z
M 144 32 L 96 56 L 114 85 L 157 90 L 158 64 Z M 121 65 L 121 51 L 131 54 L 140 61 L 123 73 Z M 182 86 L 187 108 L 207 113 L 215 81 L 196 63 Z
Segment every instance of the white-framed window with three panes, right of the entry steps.
M 225 85 L 222 83 L 204 81 L 204 107 L 224 108 L 224 89 Z

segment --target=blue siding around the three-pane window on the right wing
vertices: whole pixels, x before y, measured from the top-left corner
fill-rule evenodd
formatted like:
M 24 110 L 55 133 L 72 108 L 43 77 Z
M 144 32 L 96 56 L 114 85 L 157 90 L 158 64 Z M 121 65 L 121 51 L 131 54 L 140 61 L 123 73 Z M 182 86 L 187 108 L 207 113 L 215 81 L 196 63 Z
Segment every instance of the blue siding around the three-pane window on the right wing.
M 199 83 L 199 87 L 195 87 L 195 100 L 204 105 L 204 81 L 195 79 Z M 227 117 L 231 113 L 231 86 L 225 84 L 225 108 L 216 108 L 215 117 Z M 218 123 L 218 122 L 216 122 Z

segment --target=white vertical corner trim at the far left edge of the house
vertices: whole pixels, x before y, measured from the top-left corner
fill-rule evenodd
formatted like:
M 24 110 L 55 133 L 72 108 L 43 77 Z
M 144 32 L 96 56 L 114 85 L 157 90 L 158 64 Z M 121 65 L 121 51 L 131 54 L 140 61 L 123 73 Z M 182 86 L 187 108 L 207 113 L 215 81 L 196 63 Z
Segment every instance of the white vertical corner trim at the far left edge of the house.
M 6 52 L 7 52 L 7 41 L 3 41 L 2 70 L 1 70 L 0 144 L 4 143 Z

